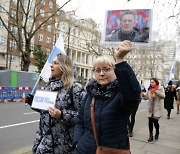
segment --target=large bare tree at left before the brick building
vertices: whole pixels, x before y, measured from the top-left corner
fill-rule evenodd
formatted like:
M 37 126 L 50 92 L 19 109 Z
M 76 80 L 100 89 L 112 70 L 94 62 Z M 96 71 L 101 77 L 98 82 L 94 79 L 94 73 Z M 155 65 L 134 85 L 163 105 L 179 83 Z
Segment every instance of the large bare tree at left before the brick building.
M 32 52 L 31 46 L 34 45 L 32 39 L 36 32 L 42 26 L 54 24 L 53 22 L 50 23 L 48 21 L 70 1 L 71 0 L 67 0 L 62 6 L 52 9 L 51 12 L 48 12 L 48 16 L 44 16 L 43 18 L 41 17 L 42 12 L 40 11 L 43 7 L 43 1 L 41 0 L 16 0 L 16 4 L 11 10 L 4 7 L 3 4 L 0 5 L 0 10 L 3 10 L 0 16 L 0 21 L 8 31 L 8 37 L 14 40 L 17 44 L 17 49 L 20 52 L 22 61 L 21 70 L 28 71 L 29 69 L 30 55 Z M 6 15 L 9 18 L 8 23 L 4 22 L 2 15 Z M 40 20 L 41 22 L 39 22 Z M 9 26 L 10 23 L 16 27 L 16 34 L 12 27 Z

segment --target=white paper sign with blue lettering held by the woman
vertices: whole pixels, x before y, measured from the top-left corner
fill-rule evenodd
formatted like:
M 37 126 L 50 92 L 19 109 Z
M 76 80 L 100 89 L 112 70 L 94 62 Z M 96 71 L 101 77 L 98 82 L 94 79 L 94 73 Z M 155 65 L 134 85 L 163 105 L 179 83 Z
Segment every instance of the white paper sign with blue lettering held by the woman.
M 32 102 L 32 108 L 47 110 L 49 107 L 54 107 L 56 102 L 57 92 L 37 90 Z

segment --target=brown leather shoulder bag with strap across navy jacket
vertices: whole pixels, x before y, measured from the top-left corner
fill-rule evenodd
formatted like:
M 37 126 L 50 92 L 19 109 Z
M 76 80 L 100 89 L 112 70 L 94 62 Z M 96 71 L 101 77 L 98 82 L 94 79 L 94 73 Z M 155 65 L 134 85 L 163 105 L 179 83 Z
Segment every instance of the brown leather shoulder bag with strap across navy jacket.
M 98 143 L 98 136 L 96 132 L 96 126 L 95 126 L 95 118 L 94 118 L 94 103 L 95 103 L 95 98 L 92 98 L 91 102 L 91 122 L 92 122 L 92 129 L 94 133 L 94 138 L 96 141 L 96 154 L 131 154 L 130 151 L 130 144 L 128 149 L 114 149 L 114 148 L 109 148 L 109 147 L 104 147 L 100 146 Z

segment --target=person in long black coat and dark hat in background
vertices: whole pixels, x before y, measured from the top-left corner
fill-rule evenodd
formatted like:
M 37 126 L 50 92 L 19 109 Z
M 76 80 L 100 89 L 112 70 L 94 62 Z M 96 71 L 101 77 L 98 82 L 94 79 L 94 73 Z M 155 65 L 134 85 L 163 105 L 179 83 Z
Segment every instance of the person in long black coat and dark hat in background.
M 164 108 L 167 110 L 167 119 L 170 119 L 171 109 L 174 109 L 174 98 L 177 100 L 176 89 L 170 80 L 165 88 Z

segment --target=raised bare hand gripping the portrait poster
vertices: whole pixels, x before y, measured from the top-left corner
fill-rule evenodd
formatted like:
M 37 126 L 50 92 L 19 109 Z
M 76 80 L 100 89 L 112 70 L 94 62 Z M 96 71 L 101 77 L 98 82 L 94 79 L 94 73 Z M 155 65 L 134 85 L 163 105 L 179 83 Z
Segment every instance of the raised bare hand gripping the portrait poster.
M 132 44 L 131 41 L 125 40 L 121 42 L 119 45 L 117 51 L 114 53 L 114 58 L 116 59 L 117 63 L 120 63 L 123 61 L 123 58 L 132 50 Z

